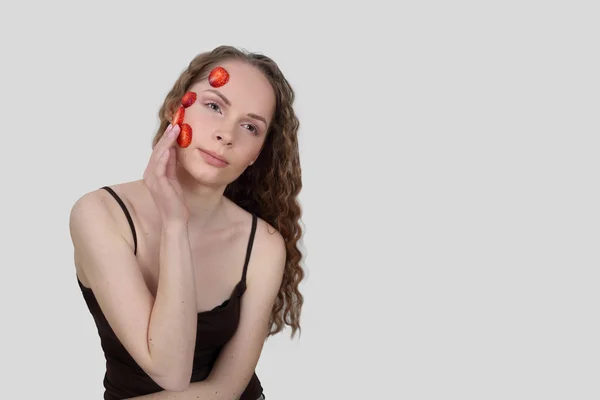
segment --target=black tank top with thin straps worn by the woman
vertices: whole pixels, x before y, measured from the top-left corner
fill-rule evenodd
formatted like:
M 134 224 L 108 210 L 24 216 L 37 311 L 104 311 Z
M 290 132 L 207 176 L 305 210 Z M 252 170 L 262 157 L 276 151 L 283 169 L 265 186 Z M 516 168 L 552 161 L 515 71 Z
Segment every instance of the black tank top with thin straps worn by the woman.
M 102 187 L 107 190 L 119 203 L 134 239 L 134 254 L 137 254 L 137 236 L 131 215 L 125 206 L 125 203 L 108 186 Z M 252 215 L 252 230 L 248 240 L 246 251 L 246 261 L 242 278 L 233 289 L 232 295 L 228 300 L 212 310 L 198 313 L 198 328 L 196 335 L 196 347 L 194 350 L 194 364 L 190 382 L 199 382 L 208 377 L 210 371 L 219 356 L 223 346 L 235 334 L 240 318 L 240 301 L 246 291 L 246 270 L 250 260 L 254 234 L 256 232 L 256 215 Z M 145 394 L 160 392 L 163 390 L 156 382 L 152 380 L 137 362 L 129 355 L 125 347 L 121 344 L 108 321 L 104 317 L 102 310 L 92 290 L 83 286 L 79 278 L 77 282 L 83 293 L 87 307 L 94 318 L 94 322 L 100 336 L 100 344 L 106 359 L 106 373 L 104 375 L 104 399 L 118 400 L 129 397 L 142 396 Z M 253 374 L 248 386 L 240 397 L 240 400 L 256 400 L 263 393 L 261 383 Z

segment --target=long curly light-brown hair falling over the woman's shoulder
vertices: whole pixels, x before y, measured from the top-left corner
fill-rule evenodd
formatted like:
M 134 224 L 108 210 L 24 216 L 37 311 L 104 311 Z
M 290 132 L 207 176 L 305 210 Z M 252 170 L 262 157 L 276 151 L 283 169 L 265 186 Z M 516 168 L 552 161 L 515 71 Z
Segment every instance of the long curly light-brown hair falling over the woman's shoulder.
M 269 223 L 285 240 L 285 270 L 271 311 L 269 336 L 281 332 L 284 325 L 288 325 L 294 337 L 297 331 L 301 331 L 300 314 L 304 303 L 298 289 L 304 278 L 300 265 L 302 253 L 298 246 L 302 236 L 299 223 L 302 211 L 297 198 L 302 188 L 297 137 L 300 123 L 293 109 L 294 90 L 278 65 L 265 55 L 232 46 L 218 46 L 197 55 L 175 81 L 160 108 L 160 124 L 152 140 L 152 148 L 167 129 L 182 96 L 226 60 L 240 60 L 258 68 L 275 91 L 275 113 L 260 157 L 227 186 L 224 195 Z

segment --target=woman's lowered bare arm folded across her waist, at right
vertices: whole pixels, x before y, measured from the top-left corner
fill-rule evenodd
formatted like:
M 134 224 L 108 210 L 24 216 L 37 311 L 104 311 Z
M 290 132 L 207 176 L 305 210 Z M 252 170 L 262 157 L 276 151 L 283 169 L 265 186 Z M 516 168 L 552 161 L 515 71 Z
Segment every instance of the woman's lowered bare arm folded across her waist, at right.
M 272 228 L 271 228 L 272 229 Z M 252 377 L 269 331 L 269 318 L 286 261 L 282 236 L 263 226 L 248 265 L 247 290 L 242 296 L 240 323 L 225 345 L 210 376 L 183 392 L 163 391 L 135 400 L 235 400 Z

